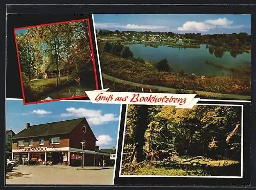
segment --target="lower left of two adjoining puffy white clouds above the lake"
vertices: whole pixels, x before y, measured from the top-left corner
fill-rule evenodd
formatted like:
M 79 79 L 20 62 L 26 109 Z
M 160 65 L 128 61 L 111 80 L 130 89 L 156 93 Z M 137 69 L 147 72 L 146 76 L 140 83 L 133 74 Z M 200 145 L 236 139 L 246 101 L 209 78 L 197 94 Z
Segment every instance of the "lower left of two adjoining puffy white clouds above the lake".
M 209 24 L 204 22 L 187 21 L 182 27 L 178 27 L 178 31 L 201 31 L 206 32 L 210 29 Z

